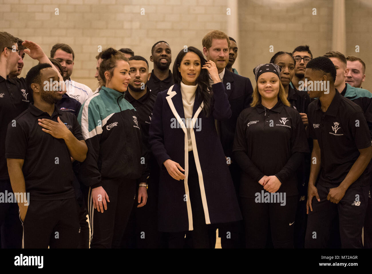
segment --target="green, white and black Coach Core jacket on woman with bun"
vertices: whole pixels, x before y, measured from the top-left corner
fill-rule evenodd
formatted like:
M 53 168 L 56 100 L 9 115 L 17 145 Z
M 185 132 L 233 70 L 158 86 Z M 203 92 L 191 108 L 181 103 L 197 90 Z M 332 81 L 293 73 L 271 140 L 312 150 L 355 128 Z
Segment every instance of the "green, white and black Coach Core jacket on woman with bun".
M 146 182 L 147 151 L 141 126 L 124 93 L 102 87 L 80 108 L 78 122 L 88 146 L 87 158 L 79 169 L 84 185 L 101 186 L 101 178 Z

